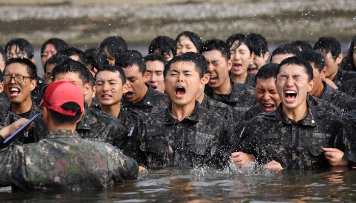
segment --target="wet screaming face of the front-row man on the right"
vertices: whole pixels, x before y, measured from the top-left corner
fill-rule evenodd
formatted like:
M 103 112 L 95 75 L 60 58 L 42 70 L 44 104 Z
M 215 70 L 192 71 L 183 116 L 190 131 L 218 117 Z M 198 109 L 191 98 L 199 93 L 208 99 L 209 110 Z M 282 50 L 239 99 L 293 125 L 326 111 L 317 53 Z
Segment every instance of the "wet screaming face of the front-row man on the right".
M 294 64 L 281 66 L 276 88 L 285 108 L 295 109 L 303 105 L 313 86 L 314 80 L 308 81 L 308 74 L 303 66 Z

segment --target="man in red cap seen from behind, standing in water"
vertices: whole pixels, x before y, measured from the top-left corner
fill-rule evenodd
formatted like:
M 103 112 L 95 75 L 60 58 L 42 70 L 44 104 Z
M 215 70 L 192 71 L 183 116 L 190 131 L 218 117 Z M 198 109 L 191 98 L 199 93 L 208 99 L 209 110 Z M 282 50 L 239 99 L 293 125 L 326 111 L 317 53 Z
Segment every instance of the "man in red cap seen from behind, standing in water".
M 49 134 L 38 143 L 2 150 L 0 187 L 80 190 L 138 177 L 138 163 L 120 150 L 79 138 L 75 127 L 84 114 L 84 95 L 76 84 L 53 82 L 42 94 Z

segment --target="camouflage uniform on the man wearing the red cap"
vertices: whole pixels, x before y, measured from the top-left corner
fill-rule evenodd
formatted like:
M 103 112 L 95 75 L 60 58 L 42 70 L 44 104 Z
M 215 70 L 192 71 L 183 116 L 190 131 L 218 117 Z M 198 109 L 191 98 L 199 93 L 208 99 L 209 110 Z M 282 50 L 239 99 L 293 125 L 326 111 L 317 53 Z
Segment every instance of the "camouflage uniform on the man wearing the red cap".
M 138 164 L 108 143 L 53 130 L 45 139 L 0 153 L 0 187 L 22 190 L 106 188 L 138 177 Z

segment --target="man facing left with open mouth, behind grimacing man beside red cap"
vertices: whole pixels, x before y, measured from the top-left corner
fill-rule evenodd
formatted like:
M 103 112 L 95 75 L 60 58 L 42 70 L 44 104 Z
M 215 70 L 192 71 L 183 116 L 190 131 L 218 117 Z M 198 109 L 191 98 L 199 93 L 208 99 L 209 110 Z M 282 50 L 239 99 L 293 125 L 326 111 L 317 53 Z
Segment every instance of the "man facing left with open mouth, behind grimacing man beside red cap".
M 167 96 L 145 84 L 146 63 L 140 52 L 125 51 L 118 56 L 115 65 L 123 67 L 129 86 L 121 100 L 124 108 L 140 113 L 152 113 L 167 107 Z

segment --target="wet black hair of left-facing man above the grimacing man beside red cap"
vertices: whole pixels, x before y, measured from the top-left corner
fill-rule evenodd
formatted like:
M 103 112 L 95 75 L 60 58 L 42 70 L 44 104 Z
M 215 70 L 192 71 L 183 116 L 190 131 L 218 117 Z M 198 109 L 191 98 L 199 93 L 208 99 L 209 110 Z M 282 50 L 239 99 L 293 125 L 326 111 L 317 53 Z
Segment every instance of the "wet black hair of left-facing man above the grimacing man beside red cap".
M 124 53 L 118 55 L 117 60 L 115 60 L 115 65 L 123 67 L 123 69 L 131 67 L 132 65 L 138 65 L 139 71 L 142 73 L 142 75 L 146 71 L 145 60 L 141 53 L 136 50 L 127 50 Z

